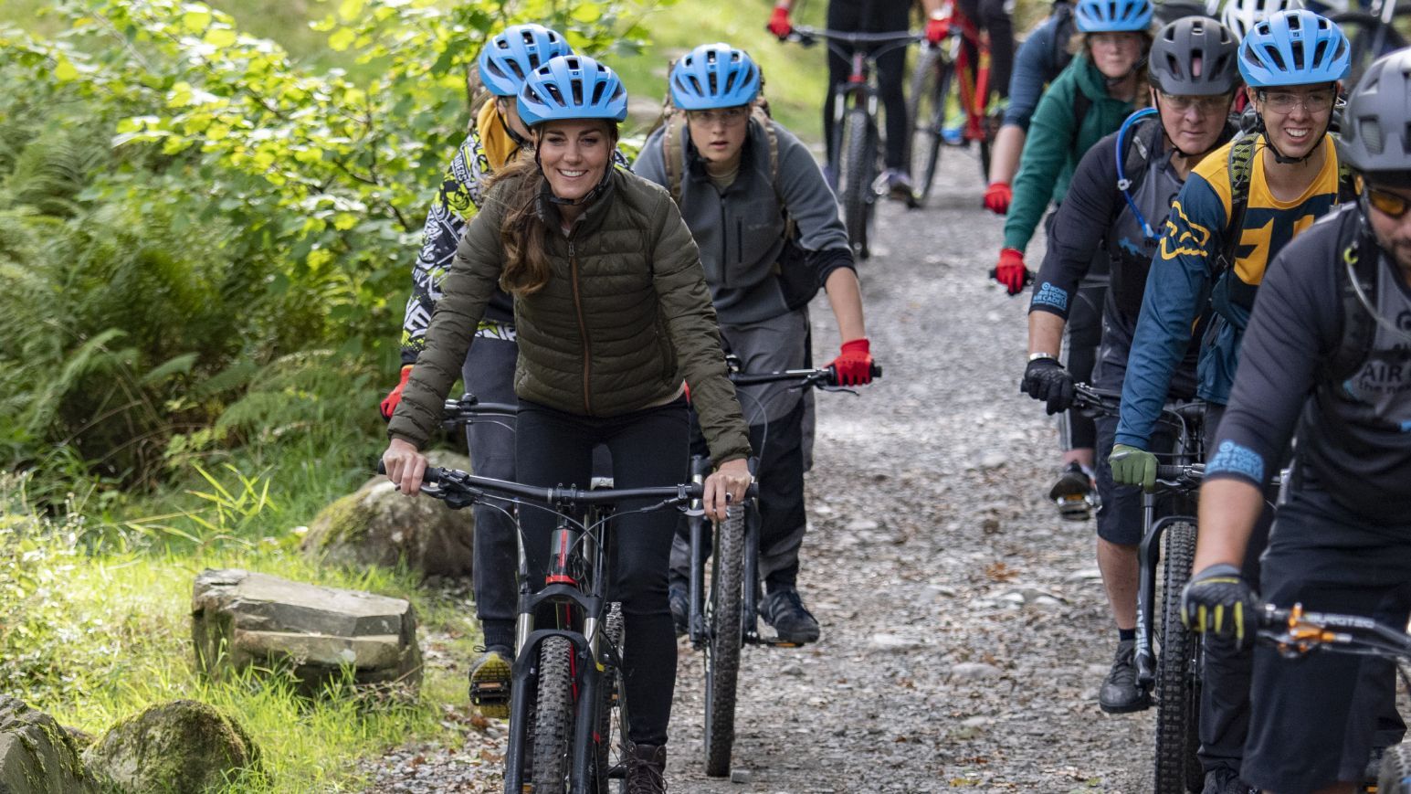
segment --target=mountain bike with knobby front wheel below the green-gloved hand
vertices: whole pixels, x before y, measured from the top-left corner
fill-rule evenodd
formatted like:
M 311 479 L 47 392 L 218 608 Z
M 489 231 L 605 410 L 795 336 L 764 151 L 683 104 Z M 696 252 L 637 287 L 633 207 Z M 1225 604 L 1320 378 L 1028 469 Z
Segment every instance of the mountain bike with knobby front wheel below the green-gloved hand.
M 1120 393 L 1082 383 L 1075 384 L 1074 393 L 1074 405 L 1079 410 L 1106 415 L 1118 415 L 1120 410 Z M 1157 489 L 1141 496 L 1134 665 L 1137 687 L 1146 692 L 1156 689 L 1156 794 L 1185 794 L 1199 791 L 1205 780 L 1197 757 L 1201 746 L 1201 636 L 1181 623 L 1181 591 L 1191 579 L 1195 561 L 1195 492 L 1205 469 L 1201 462 L 1205 403 L 1168 403 L 1161 410 L 1160 424 L 1173 434 L 1175 445 L 1171 454 L 1161 455 L 1167 463 L 1157 466 Z M 1171 497 L 1173 510 L 1157 517 L 1163 497 Z

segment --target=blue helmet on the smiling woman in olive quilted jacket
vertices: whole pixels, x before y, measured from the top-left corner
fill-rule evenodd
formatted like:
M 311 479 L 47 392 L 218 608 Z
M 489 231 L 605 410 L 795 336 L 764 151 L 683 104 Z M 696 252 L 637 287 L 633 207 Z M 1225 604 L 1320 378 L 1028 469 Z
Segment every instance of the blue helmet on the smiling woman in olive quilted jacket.
M 626 89 L 617 72 L 586 55 L 560 55 L 529 73 L 519 89 L 528 127 L 567 119 L 626 119 Z

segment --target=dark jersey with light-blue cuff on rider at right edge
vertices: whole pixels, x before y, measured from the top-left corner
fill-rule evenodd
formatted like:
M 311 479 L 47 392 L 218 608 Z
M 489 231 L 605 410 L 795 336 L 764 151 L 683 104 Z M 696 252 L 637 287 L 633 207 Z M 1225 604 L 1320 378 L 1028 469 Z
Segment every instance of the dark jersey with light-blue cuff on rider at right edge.
M 1411 514 L 1411 345 L 1379 325 L 1356 374 L 1340 383 L 1319 377 L 1342 340 L 1343 251 L 1362 223 L 1360 208 L 1346 206 L 1295 237 L 1268 267 L 1206 478 L 1263 485 L 1297 427 L 1295 487 L 1326 490 L 1366 521 L 1404 524 Z M 1362 256 L 1381 257 L 1371 298 L 1377 312 L 1411 328 L 1411 288 L 1390 257 L 1367 247 Z

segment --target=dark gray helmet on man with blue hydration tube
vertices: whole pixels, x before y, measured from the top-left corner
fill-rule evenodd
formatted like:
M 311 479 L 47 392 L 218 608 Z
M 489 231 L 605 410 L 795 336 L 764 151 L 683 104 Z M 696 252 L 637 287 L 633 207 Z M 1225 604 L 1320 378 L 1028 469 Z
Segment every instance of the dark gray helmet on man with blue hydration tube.
M 1161 93 L 1219 96 L 1239 85 L 1237 55 L 1239 41 L 1228 27 L 1209 17 L 1185 17 L 1157 31 L 1147 69 Z

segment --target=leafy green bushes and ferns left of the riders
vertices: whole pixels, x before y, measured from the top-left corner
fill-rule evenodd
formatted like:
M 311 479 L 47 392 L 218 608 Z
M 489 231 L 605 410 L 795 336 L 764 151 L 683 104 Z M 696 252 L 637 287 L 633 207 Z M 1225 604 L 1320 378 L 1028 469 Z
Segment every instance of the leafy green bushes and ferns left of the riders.
M 487 31 L 536 20 L 624 54 L 643 34 L 634 0 L 326 8 L 312 31 L 349 71 L 179 0 L 0 28 L 0 455 L 44 472 L 41 502 L 373 431 Z

